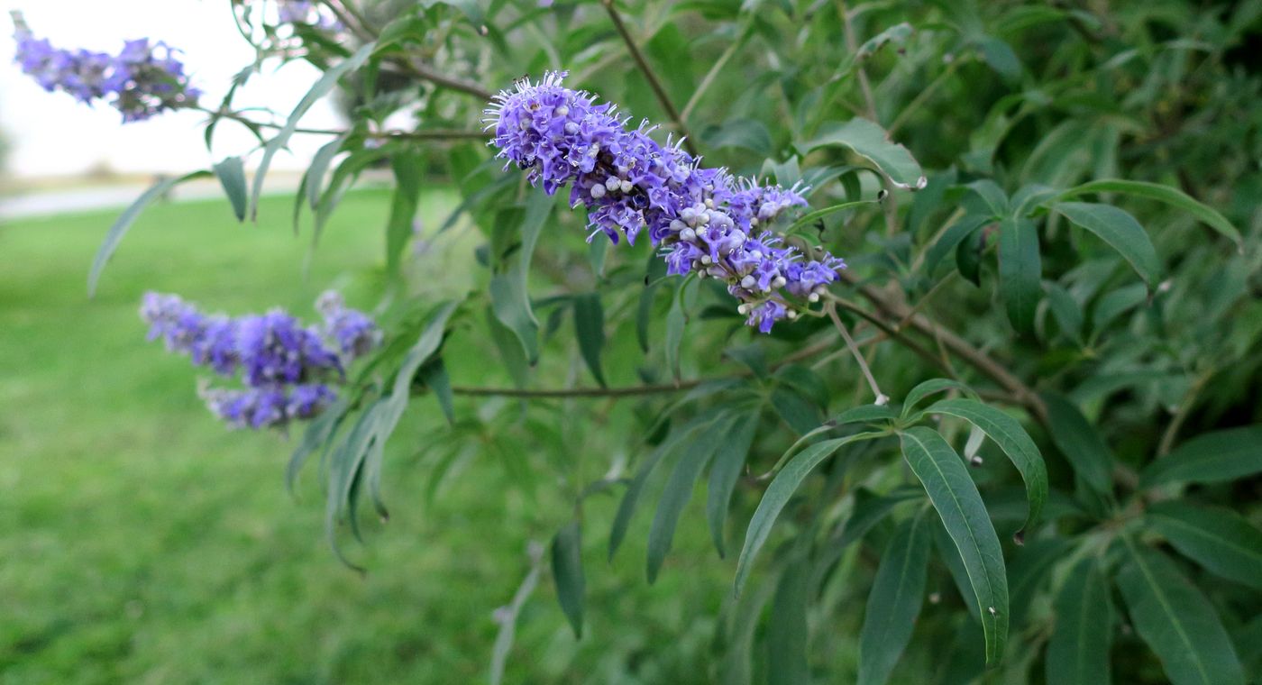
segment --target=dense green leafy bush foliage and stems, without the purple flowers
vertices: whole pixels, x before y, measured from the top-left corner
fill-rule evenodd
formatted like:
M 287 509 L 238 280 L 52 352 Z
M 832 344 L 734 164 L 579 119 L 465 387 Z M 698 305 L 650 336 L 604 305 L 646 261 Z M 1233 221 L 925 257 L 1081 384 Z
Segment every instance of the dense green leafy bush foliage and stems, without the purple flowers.
M 259 49 L 240 82 L 275 59 L 326 73 L 280 124 L 202 102 L 208 141 L 259 134 L 252 185 L 237 158 L 213 169 L 237 216 L 338 82 L 353 125 L 328 132 L 294 226 L 318 238 L 370 165 L 399 180 L 386 342 L 290 467 L 321 462 L 339 556 L 360 510 L 385 511 L 382 462 L 410 449 L 387 438 L 422 420 L 409 396 L 432 395 L 410 402 L 449 423 L 425 448 L 435 488 L 472 449 L 500 458 L 452 477 L 505 468 L 573 503 L 540 568 L 575 635 L 584 577 L 635 521 L 652 521 L 650 583 L 685 573 L 676 526 L 709 527 L 704 563 L 736 580 L 699 618 L 709 645 L 644 657 L 698 681 L 1262 677 L 1257 4 L 233 10 Z M 776 230 L 849 267 L 762 336 L 714 279 L 664 278 L 647 240 L 584 242 L 583 209 L 501 169 L 481 129 L 492 91 L 548 69 L 704 164 L 809 184 L 817 211 Z M 435 172 L 462 203 L 418 238 Z M 471 288 L 409 269 L 414 240 L 466 232 Z M 584 525 L 593 510 L 612 531 Z

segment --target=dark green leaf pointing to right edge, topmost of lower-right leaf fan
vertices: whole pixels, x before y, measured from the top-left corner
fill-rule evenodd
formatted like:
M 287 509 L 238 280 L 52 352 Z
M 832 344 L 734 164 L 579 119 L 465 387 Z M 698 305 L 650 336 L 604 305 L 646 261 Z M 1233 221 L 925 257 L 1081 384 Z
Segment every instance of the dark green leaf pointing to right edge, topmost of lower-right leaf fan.
M 1140 474 L 1141 487 L 1222 483 L 1262 472 L 1262 424 L 1198 435 Z

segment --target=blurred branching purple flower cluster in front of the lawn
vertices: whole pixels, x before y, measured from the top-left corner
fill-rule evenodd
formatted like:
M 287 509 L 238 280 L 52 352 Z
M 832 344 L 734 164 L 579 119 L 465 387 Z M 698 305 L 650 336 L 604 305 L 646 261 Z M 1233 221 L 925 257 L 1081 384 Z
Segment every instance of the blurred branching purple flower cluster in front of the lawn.
M 367 315 L 328 291 L 319 298 L 324 325 L 307 327 L 280 309 L 230 318 L 206 314 L 179 295 L 146 293 L 140 317 L 149 339 L 188 354 L 220 376 L 240 373 L 245 389 L 203 389 L 202 397 L 233 428 L 283 426 L 310 419 L 337 399 L 329 382 L 380 342 Z

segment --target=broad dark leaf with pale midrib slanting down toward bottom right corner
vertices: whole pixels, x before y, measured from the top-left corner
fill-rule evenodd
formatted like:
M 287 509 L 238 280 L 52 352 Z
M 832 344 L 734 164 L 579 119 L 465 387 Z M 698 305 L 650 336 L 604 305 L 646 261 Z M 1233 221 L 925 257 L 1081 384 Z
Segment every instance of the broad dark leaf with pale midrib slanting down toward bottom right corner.
M 1117 577 L 1136 632 L 1174 685 L 1244 685 L 1241 662 L 1214 606 L 1161 553 L 1128 539 Z

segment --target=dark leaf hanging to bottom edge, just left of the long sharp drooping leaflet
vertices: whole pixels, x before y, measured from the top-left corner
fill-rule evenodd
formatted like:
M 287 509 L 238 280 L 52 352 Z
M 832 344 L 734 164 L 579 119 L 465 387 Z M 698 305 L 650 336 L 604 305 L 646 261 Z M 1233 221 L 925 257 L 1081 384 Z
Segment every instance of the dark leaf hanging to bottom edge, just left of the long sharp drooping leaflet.
M 876 569 L 859 631 L 859 685 L 887 682 L 911 641 L 929 565 L 929 525 L 923 513 L 899 526 Z

